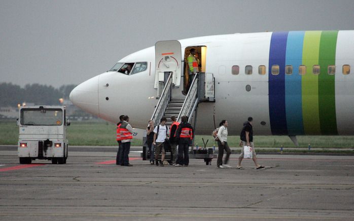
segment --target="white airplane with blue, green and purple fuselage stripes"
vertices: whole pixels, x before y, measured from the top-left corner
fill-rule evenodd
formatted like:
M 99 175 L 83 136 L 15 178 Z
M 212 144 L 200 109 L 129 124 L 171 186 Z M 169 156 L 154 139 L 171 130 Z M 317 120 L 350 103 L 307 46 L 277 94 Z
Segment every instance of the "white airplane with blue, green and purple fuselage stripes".
M 197 134 L 210 135 L 226 119 L 229 135 L 239 135 L 243 122 L 252 116 L 256 135 L 285 135 L 295 144 L 298 135 L 354 135 L 352 39 L 354 30 L 158 41 L 79 84 L 69 97 L 77 107 L 104 120 L 115 123 L 126 114 L 134 127 L 146 128 L 155 107 L 163 102 L 159 100 L 166 73 L 172 78 L 169 102 L 185 102 L 185 60 L 194 48 L 201 55 L 200 72 L 209 79 L 202 83 L 209 83 L 209 89 L 210 82 L 214 84 L 214 97 L 205 95 L 206 102 L 194 109 Z

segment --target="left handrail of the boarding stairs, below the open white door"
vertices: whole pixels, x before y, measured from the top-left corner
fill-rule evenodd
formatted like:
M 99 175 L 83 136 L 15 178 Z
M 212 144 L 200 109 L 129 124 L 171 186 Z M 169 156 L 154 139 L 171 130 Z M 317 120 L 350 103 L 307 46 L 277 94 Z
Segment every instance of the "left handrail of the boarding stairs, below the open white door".
M 151 116 L 151 120 L 154 121 L 155 126 L 160 123 L 160 119 L 164 115 L 166 108 L 171 101 L 172 92 L 172 72 L 169 74 L 166 84 L 163 88 L 162 94 L 157 102 L 154 113 Z

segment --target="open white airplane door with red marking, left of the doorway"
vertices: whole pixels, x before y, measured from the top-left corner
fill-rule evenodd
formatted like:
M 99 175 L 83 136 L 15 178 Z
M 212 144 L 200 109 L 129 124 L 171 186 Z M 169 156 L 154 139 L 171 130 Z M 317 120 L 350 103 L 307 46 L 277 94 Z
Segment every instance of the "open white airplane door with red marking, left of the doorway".
M 172 72 L 174 86 L 181 84 L 182 50 L 178 40 L 157 41 L 155 44 L 155 88 L 164 81 L 164 72 Z

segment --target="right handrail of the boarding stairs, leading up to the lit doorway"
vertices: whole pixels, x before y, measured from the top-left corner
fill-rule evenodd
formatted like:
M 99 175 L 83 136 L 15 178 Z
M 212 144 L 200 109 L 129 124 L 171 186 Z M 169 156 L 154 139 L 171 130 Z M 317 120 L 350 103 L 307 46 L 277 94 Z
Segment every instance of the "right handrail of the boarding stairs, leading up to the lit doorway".
M 187 93 L 186 99 L 183 102 L 180 114 L 178 115 L 177 121 L 181 122 L 182 116 L 188 116 L 188 122 L 191 122 L 192 112 L 195 110 L 196 105 L 198 104 L 198 74 L 195 74 L 189 91 Z M 196 103 L 197 102 L 197 103 Z

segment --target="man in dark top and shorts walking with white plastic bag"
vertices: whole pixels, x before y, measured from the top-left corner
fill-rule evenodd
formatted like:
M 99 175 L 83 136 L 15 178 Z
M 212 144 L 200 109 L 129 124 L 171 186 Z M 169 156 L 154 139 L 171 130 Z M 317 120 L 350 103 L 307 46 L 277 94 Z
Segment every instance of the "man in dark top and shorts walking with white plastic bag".
M 238 158 L 238 164 L 237 164 L 237 169 L 244 169 L 241 166 L 241 162 L 243 159 L 243 147 L 244 146 L 250 146 L 252 148 L 252 159 L 253 162 L 256 164 L 256 169 L 261 169 L 264 168 L 264 166 L 261 166 L 257 163 L 257 156 L 256 156 L 256 151 L 255 151 L 255 145 L 253 144 L 253 128 L 252 128 L 252 121 L 253 118 L 249 117 L 246 122 L 243 123 L 243 128 L 241 131 L 241 141 L 242 141 L 242 148 L 241 148 L 241 154 Z

